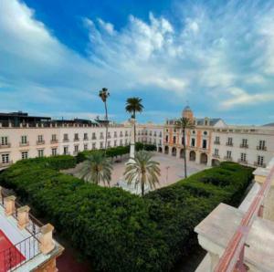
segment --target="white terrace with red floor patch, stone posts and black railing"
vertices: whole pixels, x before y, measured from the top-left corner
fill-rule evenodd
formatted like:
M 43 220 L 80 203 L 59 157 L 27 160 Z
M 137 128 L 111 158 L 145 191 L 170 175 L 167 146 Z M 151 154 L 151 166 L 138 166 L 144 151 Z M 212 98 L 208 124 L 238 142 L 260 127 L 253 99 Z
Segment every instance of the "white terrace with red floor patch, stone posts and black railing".
M 29 207 L 16 202 L 0 187 L 0 271 L 32 271 L 60 255 L 52 239 L 53 226 L 43 225 Z

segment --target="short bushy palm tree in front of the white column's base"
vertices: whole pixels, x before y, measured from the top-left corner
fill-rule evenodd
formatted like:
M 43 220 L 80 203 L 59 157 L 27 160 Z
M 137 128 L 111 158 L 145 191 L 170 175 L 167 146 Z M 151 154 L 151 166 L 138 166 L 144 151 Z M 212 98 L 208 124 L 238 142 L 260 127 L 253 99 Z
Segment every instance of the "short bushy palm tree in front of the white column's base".
M 148 183 L 151 188 L 155 188 L 155 184 L 159 183 L 158 176 L 161 170 L 159 162 L 152 160 L 150 152 L 137 152 L 132 162 L 128 162 L 124 172 L 125 180 L 128 184 L 132 182 L 141 183 L 142 196 L 144 194 L 144 184 Z

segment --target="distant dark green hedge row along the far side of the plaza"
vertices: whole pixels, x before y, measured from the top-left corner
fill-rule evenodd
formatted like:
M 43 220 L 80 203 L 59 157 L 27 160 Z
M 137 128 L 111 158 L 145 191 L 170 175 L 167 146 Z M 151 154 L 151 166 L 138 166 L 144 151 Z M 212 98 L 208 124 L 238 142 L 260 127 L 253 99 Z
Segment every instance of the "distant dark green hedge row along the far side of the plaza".
M 156 146 L 153 144 L 146 144 L 142 142 L 136 142 L 135 145 L 136 151 L 140 150 L 146 150 L 153 152 L 156 150 Z M 100 152 L 103 152 L 104 150 L 100 150 Z M 84 151 L 84 152 L 79 152 L 78 155 L 76 156 L 77 162 L 83 162 L 86 159 L 86 156 L 89 155 L 92 152 L 98 152 L 98 150 L 92 150 L 92 151 Z M 125 154 L 128 154 L 130 152 L 130 145 L 126 146 L 117 146 L 117 147 L 111 147 L 107 149 L 107 156 L 110 158 L 122 156 Z

